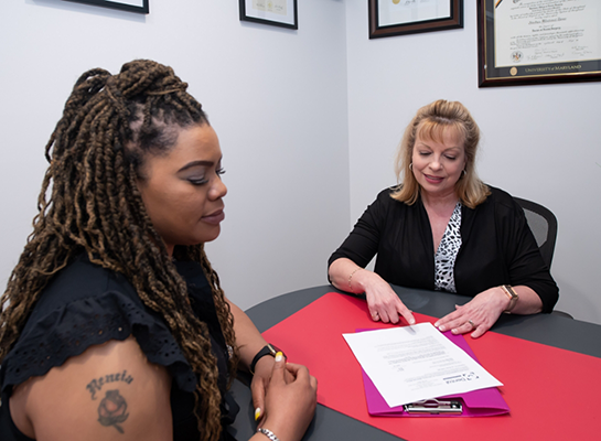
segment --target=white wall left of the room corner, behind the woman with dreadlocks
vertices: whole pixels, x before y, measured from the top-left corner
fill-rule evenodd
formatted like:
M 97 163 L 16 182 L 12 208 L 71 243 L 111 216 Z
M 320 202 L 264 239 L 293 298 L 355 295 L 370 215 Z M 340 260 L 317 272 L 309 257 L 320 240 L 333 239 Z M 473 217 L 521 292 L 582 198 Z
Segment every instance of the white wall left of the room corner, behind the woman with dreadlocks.
M 150 9 L 0 2 L 0 284 L 31 233 L 43 148 L 73 84 L 139 57 L 173 66 L 219 136 L 229 193 L 207 249 L 227 294 L 248 308 L 325 283 L 331 232 L 348 228 L 344 3 L 299 2 L 298 31 L 243 23 L 237 1 Z

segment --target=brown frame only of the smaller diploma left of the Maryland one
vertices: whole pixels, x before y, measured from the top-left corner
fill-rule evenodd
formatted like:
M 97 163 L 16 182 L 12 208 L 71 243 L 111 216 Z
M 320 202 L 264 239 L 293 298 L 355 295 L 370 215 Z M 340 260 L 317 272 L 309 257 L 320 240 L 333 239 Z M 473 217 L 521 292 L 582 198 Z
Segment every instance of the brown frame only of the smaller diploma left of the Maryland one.
M 406 21 L 387 25 L 379 24 L 378 3 L 380 1 L 390 0 L 369 0 L 369 39 L 463 28 L 463 0 L 436 0 L 439 3 L 449 3 L 450 17 L 440 17 L 423 21 Z

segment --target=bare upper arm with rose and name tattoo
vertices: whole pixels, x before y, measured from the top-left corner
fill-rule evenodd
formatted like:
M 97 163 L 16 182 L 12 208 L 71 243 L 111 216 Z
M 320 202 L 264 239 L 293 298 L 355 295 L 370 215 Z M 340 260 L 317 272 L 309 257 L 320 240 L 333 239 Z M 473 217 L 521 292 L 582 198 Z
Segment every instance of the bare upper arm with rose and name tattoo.
M 10 407 L 19 430 L 39 441 L 171 440 L 170 391 L 167 369 L 129 337 L 90 346 L 30 378 Z

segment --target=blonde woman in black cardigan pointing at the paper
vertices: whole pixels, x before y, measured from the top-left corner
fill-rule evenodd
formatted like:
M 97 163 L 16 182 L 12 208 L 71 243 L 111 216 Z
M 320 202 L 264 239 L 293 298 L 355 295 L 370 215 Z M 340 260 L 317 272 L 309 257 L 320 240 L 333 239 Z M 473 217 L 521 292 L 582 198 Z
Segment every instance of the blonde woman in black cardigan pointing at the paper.
M 384 190 L 330 257 L 339 289 L 365 293 L 374 321 L 414 323 L 389 283 L 470 297 L 441 331 L 483 335 L 503 312 L 551 312 L 558 288 L 524 212 L 477 179 L 480 129 L 457 101 L 418 110 L 399 146 L 400 184 Z M 364 267 L 377 255 L 374 271 Z

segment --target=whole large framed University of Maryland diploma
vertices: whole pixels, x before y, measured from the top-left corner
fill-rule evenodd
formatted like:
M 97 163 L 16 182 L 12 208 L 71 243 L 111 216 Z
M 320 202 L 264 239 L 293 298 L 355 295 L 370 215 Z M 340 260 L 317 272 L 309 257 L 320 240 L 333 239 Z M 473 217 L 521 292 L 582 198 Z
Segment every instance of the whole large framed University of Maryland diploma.
M 479 86 L 601 80 L 600 0 L 477 0 Z

